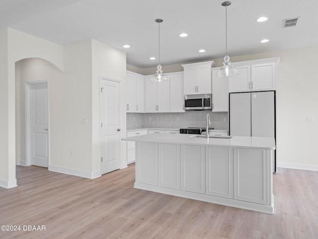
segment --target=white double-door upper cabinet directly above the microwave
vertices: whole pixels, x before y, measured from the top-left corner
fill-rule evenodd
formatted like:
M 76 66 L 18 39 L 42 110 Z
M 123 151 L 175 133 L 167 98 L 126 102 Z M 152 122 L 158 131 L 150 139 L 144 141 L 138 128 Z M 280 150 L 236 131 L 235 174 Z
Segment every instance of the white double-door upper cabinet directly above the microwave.
M 212 73 L 214 61 L 185 64 L 183 66 L 183 93 L 184 95 L 211 94 Z

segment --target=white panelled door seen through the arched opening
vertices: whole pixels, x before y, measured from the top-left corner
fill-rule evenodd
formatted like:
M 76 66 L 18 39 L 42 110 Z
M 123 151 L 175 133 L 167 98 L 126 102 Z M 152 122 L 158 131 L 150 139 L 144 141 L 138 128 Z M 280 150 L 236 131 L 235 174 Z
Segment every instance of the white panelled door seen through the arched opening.
M 48 167 L 48 94 L 47 84 L 33 85 L 30 90 L 31 164 Z

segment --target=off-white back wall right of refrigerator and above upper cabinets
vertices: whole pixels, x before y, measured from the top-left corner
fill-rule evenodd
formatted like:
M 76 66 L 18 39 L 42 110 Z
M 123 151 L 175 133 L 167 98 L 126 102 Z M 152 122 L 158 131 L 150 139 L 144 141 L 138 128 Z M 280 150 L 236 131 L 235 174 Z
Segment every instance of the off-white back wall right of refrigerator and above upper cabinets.
M 276 146 L 278 166 L 318 170 L 318 46 L 231 57 L 232 62 L 280 57 L 276 82 Z M 222 66 L 223 58 L 212 59 Z M 178 64 L 162 69 L 180 71 Z M 155 72 L 156 67 L 139 73 Z M 167 72 L 167 71 L 164 71 Z M 306 117 L 314 117 L 306 123 Z

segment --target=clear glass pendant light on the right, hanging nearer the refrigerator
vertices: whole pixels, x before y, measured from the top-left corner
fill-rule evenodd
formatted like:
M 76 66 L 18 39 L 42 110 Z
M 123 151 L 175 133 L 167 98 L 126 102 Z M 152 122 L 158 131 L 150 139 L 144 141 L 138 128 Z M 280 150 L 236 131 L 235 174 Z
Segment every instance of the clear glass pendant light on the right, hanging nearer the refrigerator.
M 238 69 L 231 65 L 230 57 L 228 56 L 228 6 L 231 5 L 231 1 L 222 2 L 222 6 L 225 6 L 225 51 L 223 66 L 218 69 L 218 77 L 229 77 L 239 75 Z

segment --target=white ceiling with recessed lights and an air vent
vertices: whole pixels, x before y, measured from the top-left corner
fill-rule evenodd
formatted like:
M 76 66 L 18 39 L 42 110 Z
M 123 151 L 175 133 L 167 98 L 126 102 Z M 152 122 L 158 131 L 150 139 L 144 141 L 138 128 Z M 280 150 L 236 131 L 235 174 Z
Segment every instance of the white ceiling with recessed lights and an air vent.
M 1 0 L 0 27 L 11 27 L 62 45 L 95 39 L 127 52 L 127 64 L 170 65 L 225 55 L 223 0 Z M 304 4 L 306 3 L 306 4 Z M 232 0 L 228 54 L 246 55 L 318 45 L 318 0 Z M 267 16 L 265 22 L 256 18 Z M 297 27 L 282 28 L 301 16 Z M 188 33 L 181 38 L 179 34 Z M 267 38 L 269 42 L 259 41 Z M 123 48 L 128 44 L 130 48 Z M 199 53 L 198 50 L 206 52 Z M 150 60 L 150 57 L 157 57 Z

